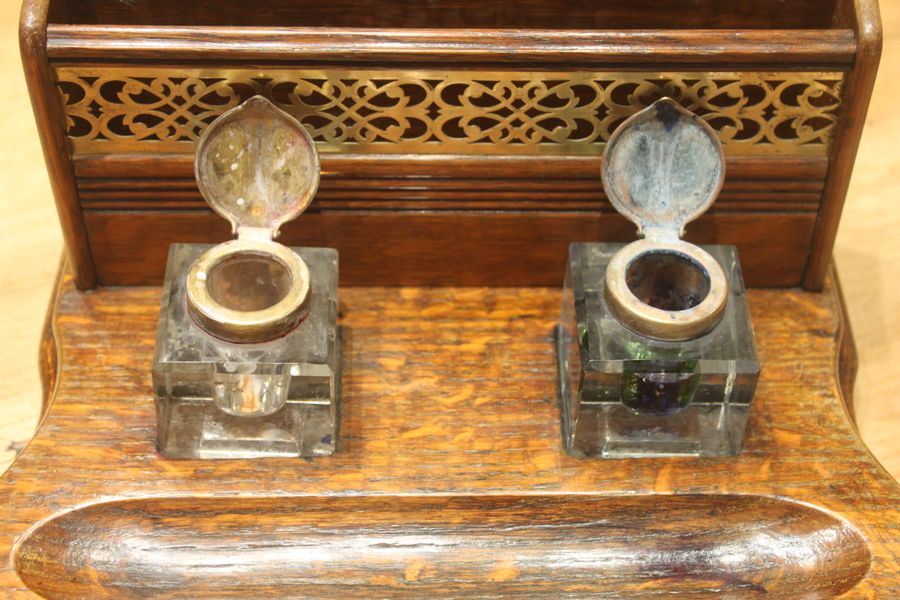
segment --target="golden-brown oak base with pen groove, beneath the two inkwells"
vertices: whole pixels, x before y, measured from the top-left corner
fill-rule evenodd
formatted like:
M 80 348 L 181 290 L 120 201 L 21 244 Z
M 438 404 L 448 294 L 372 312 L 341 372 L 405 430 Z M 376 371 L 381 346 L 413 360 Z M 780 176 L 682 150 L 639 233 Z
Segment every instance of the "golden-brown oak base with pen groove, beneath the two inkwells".
M 337 454 L 164 460 L 159 294 L 61 280 L 47 414 L 0 483 L 10 596 L 900 597 L 900 486 L 842 400 L 833 278 L 749 292 L 744 451 L 703 459 L 562 452 L 556 289 L 350 288 Z

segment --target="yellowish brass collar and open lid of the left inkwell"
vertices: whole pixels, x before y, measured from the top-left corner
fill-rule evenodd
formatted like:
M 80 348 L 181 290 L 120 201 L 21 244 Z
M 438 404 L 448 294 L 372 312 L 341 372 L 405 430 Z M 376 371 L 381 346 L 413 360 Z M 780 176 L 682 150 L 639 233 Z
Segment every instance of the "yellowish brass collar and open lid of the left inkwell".
M 204 331 L 236 343 L 275 339 L 309 309 L 309 268 L 273 241 L 319 184 L 315 144 L 296 119 L 256 96 L 216 119 L 194 161 L 206 202 L 237 234 L 203 253 L 187 273 L 187 307 Z

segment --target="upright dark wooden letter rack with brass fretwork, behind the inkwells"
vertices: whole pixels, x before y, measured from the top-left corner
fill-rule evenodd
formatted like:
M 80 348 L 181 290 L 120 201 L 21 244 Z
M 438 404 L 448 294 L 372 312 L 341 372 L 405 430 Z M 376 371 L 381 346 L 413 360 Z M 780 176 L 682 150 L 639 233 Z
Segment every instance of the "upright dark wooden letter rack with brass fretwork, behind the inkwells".
M 568 243 L 619 240 L 621 223 L 601 218 L 601 202 L 579 205 L 591 197 L 577 189 L 588 181 L 554 170 L 593 155 L 581 166 L 599 189 L 599 150 L 620 119 L 610 102 L 624 102 L 630 114 L 669 95 L 735 144 L 722 204 L 693 224 L 689 239 L 736 243 L 751 286 L 819 289 L 880 55 L 877 0 L 833 0 L 817 10 L 809 0 L 713 5 L 529 0 L 515 10 L 492 3 L 462 11 L 451 2 L 404 11 L 402 2 L 272 1 L 245 14 L 239 3 L 181 10 L 169 1 L 28 0 L 26 78 L 76 283 L 158 283 L 169 243 L 201 241 L 177 235 L 219 235 L 189 179 L 151 168 L 123 181 L 103 169 L 135 157 L 152 167 L 166 152 L 189 162 L 192 140 L 220 109 L 260 93 L 276 103 L 284 96 L 281 106 L 295 116 L 309 111 L 302 122 L 323 153 L 355 156 L 378 171 L 373 180 L 335 176 L 323 160 L 316 217 L 288 228 L 304 244 L 341 253 L 349 267 L 342 285 L 557 285 Z M 304 26 L 291 27 L 297 23 Z M 364 73 L 373 65 L 377 71 Z M 560 70 L 542 75 L 544 68 Z M 522 73 L 531 83 L 520 89 Z M 325 87 L 297 92 L 312 81 Z M 484 81 L 495 81 L 494 91 L 484 92 Z M 532 84 L 550 87 L 526 91 Z M 356 91 L 344 95 L 347 86 Z M 392 91 L 371 91 L 383 87 Z M 313 96 L 336 104 L 309 104 Z M 577 116 L 591 97 L 605 99 Z M 428 115 L 420 114 L 423 102 Z M 750 106 L 763 103 L 752 115 Z M 606 125 L 598 127 L 601 115 Z M 526 154 L 540 158 L 519 162 Z M 465 168 L 453 179 L 429 155 Z M 769 159 L 762 174 L 742 179 L 744 159 L 755 155 Z M 788 163 L 806 155 L 825 159 L 824 180 L 791 172 Z M 400 160 L 386 164 L 391 157 Z M 473 177 L 472 157 L 489 171 L 507 163 L 517 176 Z M 97 178 L 76 174 L 73 163 L 88 161 Z M 433 168 L 424 176 L 422 162 Z M 341 189 L 348 179 L 355 187 Z M 551 179 L 560 180 L 556 189 L 542 189 Z M 733 184 L 755 187 L 735 196 Z M 506 221 L 496 224 L 499 217 Z M 386 260 L 371 260 L 381 253 Z

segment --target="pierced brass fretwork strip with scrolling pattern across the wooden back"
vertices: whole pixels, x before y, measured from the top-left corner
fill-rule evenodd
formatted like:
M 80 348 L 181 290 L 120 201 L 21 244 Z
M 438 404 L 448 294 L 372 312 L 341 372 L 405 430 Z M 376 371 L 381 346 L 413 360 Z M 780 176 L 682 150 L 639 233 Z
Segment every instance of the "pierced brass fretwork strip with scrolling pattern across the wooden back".
M 731 155 L 826 154 L 843 74 L 173 69 L 56 70 L 76 153 L 193 153 L 225 110 L 262 94 L 321 152 L 600 154 L 661 96 L 700 114 Z

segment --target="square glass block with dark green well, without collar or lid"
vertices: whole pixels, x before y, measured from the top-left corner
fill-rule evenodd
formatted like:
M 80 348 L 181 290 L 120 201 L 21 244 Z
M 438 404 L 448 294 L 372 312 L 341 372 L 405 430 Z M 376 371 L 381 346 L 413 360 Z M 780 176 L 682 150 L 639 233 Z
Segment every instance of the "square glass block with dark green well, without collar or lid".
M 733 246 L 705 246 L 725 272 L 721 321 L 662 341 L 635 333 L 607 300 L 622 244 L 573 244 L 557 331 L 563 444 L 576 457 L 719 456 L 740 452 L 759 376 Z M 650 265 L 665 271 L 670 264 Z

